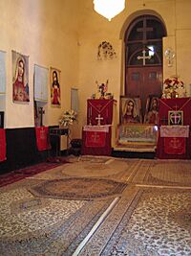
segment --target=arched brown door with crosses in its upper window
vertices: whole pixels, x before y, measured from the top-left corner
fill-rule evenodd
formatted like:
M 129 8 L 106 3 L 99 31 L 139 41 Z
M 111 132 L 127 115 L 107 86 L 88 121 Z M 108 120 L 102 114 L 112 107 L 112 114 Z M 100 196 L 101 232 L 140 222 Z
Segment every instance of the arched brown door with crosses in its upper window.
M 154 15 L 138 16 L 125 33 L 125 95 L 140 97 L 143 115 L 147 97 L 161 96 L 165 35 L 162 22 Z

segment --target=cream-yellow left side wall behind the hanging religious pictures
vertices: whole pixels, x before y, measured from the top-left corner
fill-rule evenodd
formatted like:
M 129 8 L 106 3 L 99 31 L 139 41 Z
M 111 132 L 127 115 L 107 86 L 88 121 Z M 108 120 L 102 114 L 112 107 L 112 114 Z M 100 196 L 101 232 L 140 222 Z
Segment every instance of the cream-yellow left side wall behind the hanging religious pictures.
M 78 81 L 77 0 L 0 0 L 0 49 L 7 52 L 6 128 L 34 126 L 33 65 L 61 70 L 61 108 L 45 105 L 44 125 L 57 125 L 70 108 L 70 89 Z M 29 56 L 30 103 L 12 103 L 11 50 Z

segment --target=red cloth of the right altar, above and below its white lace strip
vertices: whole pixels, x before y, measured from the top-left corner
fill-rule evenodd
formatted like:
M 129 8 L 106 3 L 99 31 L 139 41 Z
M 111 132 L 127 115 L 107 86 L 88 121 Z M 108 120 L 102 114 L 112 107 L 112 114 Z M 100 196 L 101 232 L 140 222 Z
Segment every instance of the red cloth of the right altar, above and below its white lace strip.
M 176 110 L 176 111 L 183 111 L 183 125 L 191 127 L 191 98 L 175 98 L 175 99 L 160 99 L 159 100 L 159 126 L 161 125 L 168 125 L 168 111 Z M 178 138 L 177 136 L 169 137 L 171 138 Z M 183 146 L 185 141 L 185 147 Z M 158 140 L 158 147 L 157 147 L 157 156 L 159 158 L 164 159 L 189 159 L 191 158 L 191 135 L 190 135 L 190 128 L 189 128 L 189 137 L 188 138 L 180 138 L 179 142 L 176 141 L 177 145 L 180 144 L 182 147 L 181 149 L 171 150 L 169 148 L 170 141 L 160 136 L 159 132 L 159 140 Z M 175 143 L 171 143 L 171 146 Z M 182 148 L 184 147 L 184 151 Z M 175 147 L 176 148 L 176 147 Z

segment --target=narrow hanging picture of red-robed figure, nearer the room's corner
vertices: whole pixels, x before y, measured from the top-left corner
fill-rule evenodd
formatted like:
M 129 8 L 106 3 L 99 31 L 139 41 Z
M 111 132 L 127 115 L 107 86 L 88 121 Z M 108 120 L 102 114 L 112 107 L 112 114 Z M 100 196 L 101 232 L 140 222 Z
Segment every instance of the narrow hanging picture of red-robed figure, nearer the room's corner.
M 60 71 L 51 67 L 51 105 L 61 107 Z

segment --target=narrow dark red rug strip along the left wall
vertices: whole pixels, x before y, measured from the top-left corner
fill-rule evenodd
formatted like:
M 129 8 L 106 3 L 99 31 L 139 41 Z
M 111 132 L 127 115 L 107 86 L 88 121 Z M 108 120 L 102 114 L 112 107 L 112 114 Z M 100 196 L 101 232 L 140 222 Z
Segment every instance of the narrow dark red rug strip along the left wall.
M 37 165 L 12 171 L 9 174 L 0 175 L 0 187 L 6 186 L 8 184 L 11 184 L 12 182 L 16 182 L 25 177 L 29 177 L 32 175 L 39 174 L 41 172 L 51 170 L 61 164 L 63 163 L 40 163 Z

